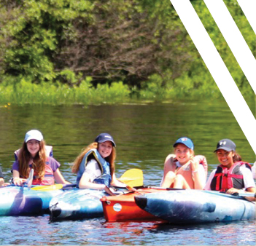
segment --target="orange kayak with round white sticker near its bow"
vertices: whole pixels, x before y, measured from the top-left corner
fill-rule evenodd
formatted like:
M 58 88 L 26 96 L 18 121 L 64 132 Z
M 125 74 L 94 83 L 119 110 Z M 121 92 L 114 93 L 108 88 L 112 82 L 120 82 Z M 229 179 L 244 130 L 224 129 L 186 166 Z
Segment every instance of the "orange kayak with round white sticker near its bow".
M 163 221 L 160 218 L 147 213 L 138 207 L 135 203 L 134 197 L 143 194 L 149 194 L 152 192 L 162 192 L 166 189 L 151 189 L 151 188 L 141 188 L 137 191 L 131 191 L 127 194 L 102 197 L 101 203 L 104 210 L 104 217 L 106 221 Z

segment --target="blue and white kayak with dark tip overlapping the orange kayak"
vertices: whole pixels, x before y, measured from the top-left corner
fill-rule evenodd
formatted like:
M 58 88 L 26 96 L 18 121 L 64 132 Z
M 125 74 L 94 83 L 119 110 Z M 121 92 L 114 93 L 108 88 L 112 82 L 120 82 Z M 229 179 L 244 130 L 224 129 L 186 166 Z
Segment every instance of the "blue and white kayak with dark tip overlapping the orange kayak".
M 135 202 L 173 224 L 255 220 L 255 202 L 217 191 L 171 190 L 139 195 Z

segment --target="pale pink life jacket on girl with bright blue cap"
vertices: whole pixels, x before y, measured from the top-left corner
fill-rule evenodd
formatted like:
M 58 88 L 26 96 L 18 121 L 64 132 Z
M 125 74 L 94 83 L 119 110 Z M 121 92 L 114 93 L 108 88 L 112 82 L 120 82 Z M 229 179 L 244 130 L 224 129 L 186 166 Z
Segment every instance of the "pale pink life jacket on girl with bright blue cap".
M 194 156 L 194 159 L 199 162 L 199 164 L 203 165 L 203 169 L 205 171 L 205 175 L 207 178 L 207 171 L 208 171 L 208 164 L 206 162 L 206 157 L 205 156 Z M 190 167 L 190 162 L 187 162 L 186 164 L 182 165 L 179 167 L 179 162 L 177 161 L 175 155 L 174 155 L 174 169 L 175 169 L 175 174 L 182 175 L 185 180 L 187 181 L 187 184 L 190 186 L 190 189 L 195 189 L 195 182 L 193 180 L 193 173 L 192 169 Z M 172 183 L 171 187 L 174 186 L 174 183 Z

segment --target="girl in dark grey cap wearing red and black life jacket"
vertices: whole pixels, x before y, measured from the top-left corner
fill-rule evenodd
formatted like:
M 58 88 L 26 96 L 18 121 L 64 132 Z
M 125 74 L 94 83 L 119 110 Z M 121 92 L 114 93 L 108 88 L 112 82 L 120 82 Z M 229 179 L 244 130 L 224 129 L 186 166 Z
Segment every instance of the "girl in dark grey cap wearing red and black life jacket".
M 220 165 L 210 174 L 205 190 L 224 191 L 228 194 L 244 189 L 255 192 L 251 167 L 247 162 L 241 161 L 241 156 L 236 153 L 236 144 L 232 140 L 220 140 L 214 152 Z

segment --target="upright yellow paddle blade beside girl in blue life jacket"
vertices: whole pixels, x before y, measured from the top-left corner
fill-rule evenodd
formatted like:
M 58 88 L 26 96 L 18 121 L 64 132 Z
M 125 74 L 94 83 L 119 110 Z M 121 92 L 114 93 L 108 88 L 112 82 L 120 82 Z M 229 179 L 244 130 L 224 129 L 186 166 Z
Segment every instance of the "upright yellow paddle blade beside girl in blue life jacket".
M 143 172 L 138 168 L 127 170 L 119 180 L 128 186 L 143 186 Z

